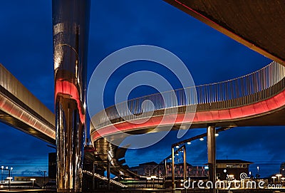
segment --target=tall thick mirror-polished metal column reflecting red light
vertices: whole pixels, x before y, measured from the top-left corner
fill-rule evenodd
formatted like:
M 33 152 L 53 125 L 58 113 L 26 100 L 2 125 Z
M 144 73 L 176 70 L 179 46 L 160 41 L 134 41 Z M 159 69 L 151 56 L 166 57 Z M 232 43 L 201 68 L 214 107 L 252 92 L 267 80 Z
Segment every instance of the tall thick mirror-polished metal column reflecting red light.
M 89 0 L 53 0 L 58 192 L 81 192 Z

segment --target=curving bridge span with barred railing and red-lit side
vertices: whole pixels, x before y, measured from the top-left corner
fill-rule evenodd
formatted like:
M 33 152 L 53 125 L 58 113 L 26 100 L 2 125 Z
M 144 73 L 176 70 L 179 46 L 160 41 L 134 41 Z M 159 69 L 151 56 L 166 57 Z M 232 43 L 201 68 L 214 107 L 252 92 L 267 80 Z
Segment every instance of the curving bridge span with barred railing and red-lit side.
M 284 125 L 285 121 L 280 119 L 285 106 L 284 84 L 285 67 L 272 62 L 239 78 L 128 100 L 91 118 L 91 140 L 121 131 L 147 131 L 158 125 L 163 130 L 163 126 L 172 123 L 174 129 L 191 122 L 192 128 L 209 124 L 217 127 Z M 185 100 L 189 96 L 190 100 Z M 145 100 L 152 101 L 153 105 L 142 107 Z

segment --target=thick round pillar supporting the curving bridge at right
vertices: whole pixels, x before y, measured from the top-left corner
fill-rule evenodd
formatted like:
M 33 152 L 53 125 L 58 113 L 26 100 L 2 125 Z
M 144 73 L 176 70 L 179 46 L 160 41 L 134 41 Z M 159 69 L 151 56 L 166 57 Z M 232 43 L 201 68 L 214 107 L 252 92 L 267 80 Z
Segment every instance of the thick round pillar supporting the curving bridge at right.
M 213 125 L 207 127 L 207 148 L 208 148 L 208 164 L 209 164 L 209 181 L 216 182 L 216 130 Z M 210 192 L 215 192 L 215 186 Z

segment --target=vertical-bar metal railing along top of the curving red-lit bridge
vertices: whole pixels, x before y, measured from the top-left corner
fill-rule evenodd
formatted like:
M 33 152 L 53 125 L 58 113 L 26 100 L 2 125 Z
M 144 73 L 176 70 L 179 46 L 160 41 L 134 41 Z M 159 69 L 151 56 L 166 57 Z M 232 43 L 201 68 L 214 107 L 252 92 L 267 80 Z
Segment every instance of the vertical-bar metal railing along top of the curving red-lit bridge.
M 249 105 L 284 90 L 284 80 L 285 67 L 273 61 L 239 78 L 155 93 L 118 103 L 94 115 L 92 122 L 98 129 L 111 122 Z

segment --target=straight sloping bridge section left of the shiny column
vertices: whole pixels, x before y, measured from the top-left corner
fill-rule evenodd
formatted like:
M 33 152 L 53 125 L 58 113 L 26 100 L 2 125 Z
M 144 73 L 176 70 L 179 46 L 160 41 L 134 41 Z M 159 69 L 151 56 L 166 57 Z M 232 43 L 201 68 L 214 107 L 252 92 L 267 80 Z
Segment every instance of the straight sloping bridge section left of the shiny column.
M 55 116 L 0 64 L 0 121 L 56 143 Z

